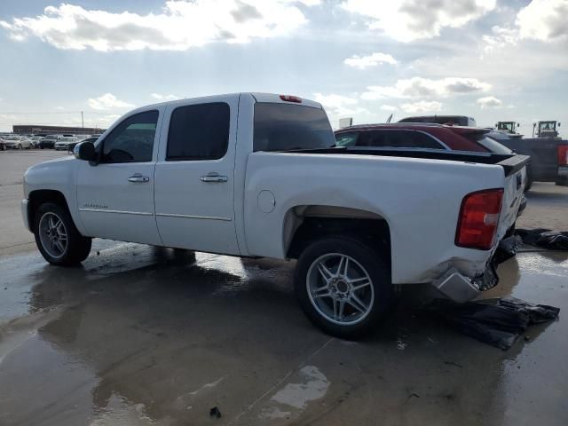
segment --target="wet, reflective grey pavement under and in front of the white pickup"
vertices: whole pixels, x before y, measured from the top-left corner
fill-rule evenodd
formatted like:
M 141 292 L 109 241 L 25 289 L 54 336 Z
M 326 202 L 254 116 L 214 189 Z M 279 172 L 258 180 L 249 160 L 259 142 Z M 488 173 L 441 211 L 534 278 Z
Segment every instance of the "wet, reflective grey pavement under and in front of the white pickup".
M 0 424 L 567 424 L 566 255 L 501 265 L 484 296 L 563 309 L 506 352 L 416 318 L 410 288 L 373 337 L 329 338 L 293 267 L 111 241 L 0 260 Z

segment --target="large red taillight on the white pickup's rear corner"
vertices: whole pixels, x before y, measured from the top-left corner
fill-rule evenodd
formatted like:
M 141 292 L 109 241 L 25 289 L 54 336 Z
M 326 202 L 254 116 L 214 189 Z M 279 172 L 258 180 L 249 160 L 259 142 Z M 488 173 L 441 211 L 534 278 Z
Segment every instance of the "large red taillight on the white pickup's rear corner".
M 455 245 L 488 250 L 493 247 L 499 214 L 502 189 L 488 189 L 469 193 L 461 201 Z

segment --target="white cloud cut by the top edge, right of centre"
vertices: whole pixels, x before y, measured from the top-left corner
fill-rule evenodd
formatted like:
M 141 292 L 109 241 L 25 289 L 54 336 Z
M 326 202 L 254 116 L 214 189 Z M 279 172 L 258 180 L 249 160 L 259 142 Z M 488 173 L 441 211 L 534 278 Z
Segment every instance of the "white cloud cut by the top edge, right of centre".
M 461 28 L 495 8 L 495 0 L 346 0 L 342 6 L 363 15 L 371 29 L 400 42 L 439 36 L 442 28 Z

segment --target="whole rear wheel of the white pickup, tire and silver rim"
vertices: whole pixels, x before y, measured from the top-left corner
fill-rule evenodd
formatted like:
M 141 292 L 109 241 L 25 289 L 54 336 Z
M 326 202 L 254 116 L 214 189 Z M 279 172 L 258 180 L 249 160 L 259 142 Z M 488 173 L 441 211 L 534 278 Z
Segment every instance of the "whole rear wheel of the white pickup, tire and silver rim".
M 390 272 L 381 255 L 351 237 L 326 237 L 305 248 L 295 287 L 312 323 L 343 339 L 371 332 L 392 300 Z

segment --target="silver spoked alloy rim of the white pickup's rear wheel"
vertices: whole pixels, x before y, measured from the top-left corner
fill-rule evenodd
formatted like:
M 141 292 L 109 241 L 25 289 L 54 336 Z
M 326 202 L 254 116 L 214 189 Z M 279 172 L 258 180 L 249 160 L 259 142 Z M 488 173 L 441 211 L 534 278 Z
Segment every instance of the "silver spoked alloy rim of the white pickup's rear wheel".
M 313 261 L 306 288 L 316 311 L 340 326 L 365 319 L 375 302 L 375 289 L 365 268 L 340 253 L 328 253 Z

